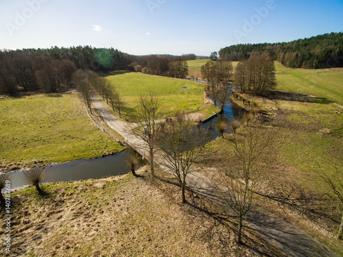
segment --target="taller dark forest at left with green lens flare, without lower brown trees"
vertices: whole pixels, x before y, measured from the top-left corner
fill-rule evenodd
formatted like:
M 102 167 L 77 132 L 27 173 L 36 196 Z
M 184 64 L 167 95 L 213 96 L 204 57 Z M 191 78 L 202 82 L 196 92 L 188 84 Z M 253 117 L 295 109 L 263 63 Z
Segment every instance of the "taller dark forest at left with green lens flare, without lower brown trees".
M 132 56 L 117 49 L 88 46 L 0 51 L 0 94 L 14 95 L 19 88 L 45 93 L 68 89 L 77 69 L 129 69 L 132 60 Z

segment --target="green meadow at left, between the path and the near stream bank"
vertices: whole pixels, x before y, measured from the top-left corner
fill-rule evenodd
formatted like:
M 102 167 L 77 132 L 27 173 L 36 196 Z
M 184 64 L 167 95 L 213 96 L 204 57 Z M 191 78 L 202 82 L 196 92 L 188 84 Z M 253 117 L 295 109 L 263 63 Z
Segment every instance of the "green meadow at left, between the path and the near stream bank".
M 88 118 L 77 93 L 54 96 L 0 99 L 2 164 L 66 162 L 123 149 Z

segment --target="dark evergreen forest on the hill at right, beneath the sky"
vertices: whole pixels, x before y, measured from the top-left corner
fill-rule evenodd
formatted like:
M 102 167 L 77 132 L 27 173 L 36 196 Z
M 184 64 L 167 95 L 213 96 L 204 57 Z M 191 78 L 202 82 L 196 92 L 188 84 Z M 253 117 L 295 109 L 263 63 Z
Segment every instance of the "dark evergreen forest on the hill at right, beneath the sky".
M 254 54 L 269 53 L 290 68 L 320 69 L 343 66 L 343 33 L 323 34 L 292 42 L 232 45 L 219 51 L 230 61 L 246 60 Z

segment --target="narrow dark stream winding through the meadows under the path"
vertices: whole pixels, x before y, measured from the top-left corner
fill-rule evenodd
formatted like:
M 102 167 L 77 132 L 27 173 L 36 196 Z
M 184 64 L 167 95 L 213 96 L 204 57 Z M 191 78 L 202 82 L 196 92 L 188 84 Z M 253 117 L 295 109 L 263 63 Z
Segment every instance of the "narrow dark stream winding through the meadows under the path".
M 224 106 L 224 112 L 217 114 L 209 121 L 206 121 L 200 127 L 204 130 L 210 130 L 212 133 L 211 140 L 221 136 L 220 132 L 215 130 L 215 123 L 218 121 L 233 121 L 237 119 L 244 111 L 235 106 L 234 103 L 228 101 Z M 230 133 L 230 129 L 226 133 Z M 99 179 L 106 176 L 122 175 L 130 172 L 126 165 L 127 151 L 121 151 L 113 156 L 105 156 L 95 159 L 81 159 L 72 162 L 57 164 L 45 169 L 45 183 L 49 182 L 67 182 L 71 180 L 88 180 Z M 27 185 L 23 180 L 22 171 L 14 171 L 11 173 L 11 188 L 21 188 Z

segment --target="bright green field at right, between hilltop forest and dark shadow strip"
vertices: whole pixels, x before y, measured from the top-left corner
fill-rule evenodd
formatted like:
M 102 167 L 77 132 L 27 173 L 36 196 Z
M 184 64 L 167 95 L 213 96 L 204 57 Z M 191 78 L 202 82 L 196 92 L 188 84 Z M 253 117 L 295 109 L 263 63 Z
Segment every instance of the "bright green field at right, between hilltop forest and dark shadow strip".
M 278 88 L 326 97 L 343 105 L 343 72 L 329 69 L 291 69 L 275 62 Z

